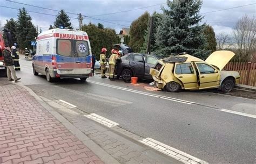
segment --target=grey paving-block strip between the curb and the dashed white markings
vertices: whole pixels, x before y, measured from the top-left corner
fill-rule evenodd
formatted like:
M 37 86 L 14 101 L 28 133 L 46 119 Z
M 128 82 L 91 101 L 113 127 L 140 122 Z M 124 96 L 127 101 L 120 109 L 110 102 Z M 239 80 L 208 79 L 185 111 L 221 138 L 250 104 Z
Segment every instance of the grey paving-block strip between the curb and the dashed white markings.
M 42 95 L 42 94 L 39 94 Z M 58 101 L 41 97 L 44 101 L 56 107 Z M 160 163 L 182 163 L 176 159 L 169 158 L 151 147 L 140 144 L 138 141 L 141 137 L 128 131 L 120 132 L 119 127 L 105 127 L 93 120 L 83 116 L 85 113 L 76 108 L 68 109 L 66 106 L 59 105 L 56 110 L 66 119 L 69 120 L 77 129 L 82 131 L 91 140 L 96 142 L 101 148 L 110 154 L 120 163 L 126 164 L 160 164 Z M 80 114 L 80 115 L 79 115 Z M 120 132 L 120 133 L 119 133 Z M 130 133 L 130 134 L 129 134 Z M 132 139 L 134 138 L 134 139 Z M 143 138 L 142 138 L 143 139 Z

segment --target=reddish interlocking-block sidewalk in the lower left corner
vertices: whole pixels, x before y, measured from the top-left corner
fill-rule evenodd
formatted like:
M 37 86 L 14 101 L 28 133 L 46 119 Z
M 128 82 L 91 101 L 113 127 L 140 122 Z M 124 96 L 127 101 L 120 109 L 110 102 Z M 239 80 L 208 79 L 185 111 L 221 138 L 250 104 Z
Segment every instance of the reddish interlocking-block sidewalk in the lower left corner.
M 27 90 L 0 90 L 0 163 L 103 163 Z

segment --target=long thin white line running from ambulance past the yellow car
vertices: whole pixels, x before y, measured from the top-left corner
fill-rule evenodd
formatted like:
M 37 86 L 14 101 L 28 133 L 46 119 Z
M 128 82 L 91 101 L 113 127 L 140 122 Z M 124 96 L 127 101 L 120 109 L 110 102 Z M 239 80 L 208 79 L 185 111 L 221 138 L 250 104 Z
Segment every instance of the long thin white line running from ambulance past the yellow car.
M 95 84 L 98 84 L 98 85 L 103 85 L 103 86 L 105 86 L 105 87 L 116 88 L 116 89 L 119 89 L 119 90 L 125 90 L 125 91 L 129 91 L 129 92 L 134 92 L 134 93 L 141 94 L 141 95 L 146 95 L 146 96 L 151 96 L 151 97 L 166 99 L 166 100 L 170 100 L 170 101 L 174 101 L 174 102 L 184 103 L 184 104 L 188 104 L 188 105 L 196 104 L 196 103 L 194 103 L 194 102 L 185 101 L 185 100 L 182 100 L 182 99 L 177 99 L 177 98 L 172 98 L 172 97 L 167 97 L 167 96 L 159 96 L 159 95 L 156 95 L 156 94 L 150 94 L 150 93 L 143 92 L 143 91 L 138 91 L 138 90 L 133 90 L 133 89 L 127 89 L 127 88 L 118 87 L 118 86 L 115 86 L 115 85 L 104 84 L 104 83 L 94 82 L 94 81 L 90 81 L 90 80 L 88 80 L 87 82 L 95 83 Z

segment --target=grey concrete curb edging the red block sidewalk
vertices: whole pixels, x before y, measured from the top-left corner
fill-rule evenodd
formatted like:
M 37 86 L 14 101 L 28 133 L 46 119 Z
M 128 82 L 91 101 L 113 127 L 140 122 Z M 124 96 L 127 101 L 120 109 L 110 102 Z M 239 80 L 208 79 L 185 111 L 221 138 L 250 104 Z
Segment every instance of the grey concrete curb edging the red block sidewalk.
M 60 115 L 57 111 L 55 111 L 53 108 L 51 108 L 50 105 L 46 104 L 38 95 L 33 92 L 32 89 L 29 87 L 26 87 L 22 83 L 15 83 L 16 85 L 19 85 L 20 87 L 23 87 L 26 89 L 31 96 L 33 96 L 39 104 L 41 104 L 46 110 L 48 110 L 53 117 L 55 117 L 60 123 L 62 123 L 72 134 L 74 134 L 80 141 L 83 142 L 83 144 L 91 149 L 93 153 L 95 153 L 100 160 L 102 160 L 106 164 L 118 164 L 119 162 L 114 159 L 109 153 L 104 151 L 99 145 L 97 145 L 93 140 L 91 140 L 89 137 L 87 137 L 83 132 L 78 130 L 73 124 L 69 122 L 66 118 L 64 118 L 62 115 Z

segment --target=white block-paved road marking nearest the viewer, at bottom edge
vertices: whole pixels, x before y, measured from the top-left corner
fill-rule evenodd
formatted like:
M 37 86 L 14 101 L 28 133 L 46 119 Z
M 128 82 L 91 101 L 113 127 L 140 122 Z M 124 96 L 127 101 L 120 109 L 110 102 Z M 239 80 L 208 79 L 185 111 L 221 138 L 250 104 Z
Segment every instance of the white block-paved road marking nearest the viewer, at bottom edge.
M 200 160 L 190 154 L 187 154 L 185 152 L 179 151 L 176 148 L 173 148 L 169 145 L 166 145 L 162 142 L 159 142 L 157 140 L 154 140 L 152 138 L 144 138 L 142 140 L 139 140 L 142 144 L 149 146 L 153 149 L 156 149 L 157 151 L 166 154 L 168 156 L 171 156 L 171 158 L 177 159 L 184 163 L 201 163 L 201 164 L 207 164 L 206 161 Z

